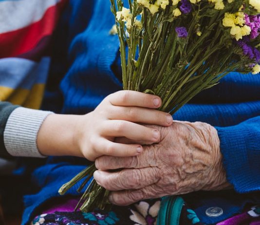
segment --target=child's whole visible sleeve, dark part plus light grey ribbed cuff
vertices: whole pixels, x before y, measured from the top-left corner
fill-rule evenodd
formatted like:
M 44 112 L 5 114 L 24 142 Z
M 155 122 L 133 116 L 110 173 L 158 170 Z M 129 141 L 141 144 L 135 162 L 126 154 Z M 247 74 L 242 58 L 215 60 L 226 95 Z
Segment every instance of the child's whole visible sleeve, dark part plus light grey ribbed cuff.
M 44 157 L 37 149 L 37 134 L 51 113 L 0 102 L 0 157 Z

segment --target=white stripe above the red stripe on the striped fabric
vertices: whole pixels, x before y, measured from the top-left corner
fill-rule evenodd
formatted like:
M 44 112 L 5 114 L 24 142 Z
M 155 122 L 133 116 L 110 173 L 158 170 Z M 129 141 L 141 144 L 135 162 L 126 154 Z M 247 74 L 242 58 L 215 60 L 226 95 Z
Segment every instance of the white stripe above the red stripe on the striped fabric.
M 61 0 L 0 1 L 0 34 L 39 21 L 46 10 Z

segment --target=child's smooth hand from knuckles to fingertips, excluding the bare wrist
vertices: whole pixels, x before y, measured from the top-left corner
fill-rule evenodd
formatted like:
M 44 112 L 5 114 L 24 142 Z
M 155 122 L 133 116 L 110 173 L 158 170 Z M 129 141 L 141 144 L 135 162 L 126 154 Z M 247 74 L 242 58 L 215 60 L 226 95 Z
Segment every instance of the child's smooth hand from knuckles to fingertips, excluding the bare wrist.
M 172 117 L 155 110 L 161 106 L 158 96 L 134 91 L 120 91 L 107 96 L 99 106 L 84 116 L 78 128 L 79 148 L 89 160 L 101 155 L 135 156 L 140 144 L 115 143 L 115 137 L 157 142 L 160 133 L 136 123 L 170 126 Z

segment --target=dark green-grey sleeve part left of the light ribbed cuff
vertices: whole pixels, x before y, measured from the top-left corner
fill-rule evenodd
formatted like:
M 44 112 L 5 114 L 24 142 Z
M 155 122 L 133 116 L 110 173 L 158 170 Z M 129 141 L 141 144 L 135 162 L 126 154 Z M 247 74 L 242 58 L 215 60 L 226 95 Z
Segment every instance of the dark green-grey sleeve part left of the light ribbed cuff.
M 1 158 L 11 158 L 4 146 L 3 132 L 10 114 L 17 108 L 9 102 L 0 102 L 0 157 Z

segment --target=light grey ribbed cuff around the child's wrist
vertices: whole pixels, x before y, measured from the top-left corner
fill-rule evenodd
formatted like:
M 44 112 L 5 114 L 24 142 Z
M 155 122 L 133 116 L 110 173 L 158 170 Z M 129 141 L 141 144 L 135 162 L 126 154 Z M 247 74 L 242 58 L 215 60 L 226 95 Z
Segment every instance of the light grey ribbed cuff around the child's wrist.
M 45 157 L 37 148 L 37 134 L 45 118 L 53 112 L 15 109 L 9 116 L 4 133 L 4 145 L 12 156 Z

